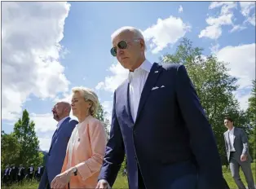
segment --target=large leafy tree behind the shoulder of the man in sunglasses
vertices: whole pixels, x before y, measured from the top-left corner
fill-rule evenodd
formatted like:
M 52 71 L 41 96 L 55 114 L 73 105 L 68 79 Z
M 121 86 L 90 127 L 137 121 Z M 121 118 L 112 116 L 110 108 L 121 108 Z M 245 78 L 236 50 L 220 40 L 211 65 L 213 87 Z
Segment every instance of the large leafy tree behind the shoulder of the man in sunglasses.
M 239 103 L 232 92 L 237 89 L 236 78 L 228 74 L 227 63 L 218 61 L 212 55 L 202 55 L 202 48 L 193 47 L 192 42 L 183 38 L 173 55 L 165 55 L 164 63 L 183 64 L 188 71 L 210 121 L 218 144 L 218 150 L 223 163 L 226 161 L 224 151 L 223 118 L 226 115 L 235 116 L 236 126 L 246 125 L 245 112 L 242 112 Z

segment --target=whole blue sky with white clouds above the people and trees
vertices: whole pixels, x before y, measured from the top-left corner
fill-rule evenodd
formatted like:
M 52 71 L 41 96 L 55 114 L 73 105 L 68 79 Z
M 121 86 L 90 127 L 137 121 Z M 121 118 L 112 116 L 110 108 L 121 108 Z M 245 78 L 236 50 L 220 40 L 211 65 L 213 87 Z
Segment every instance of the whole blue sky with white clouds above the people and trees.
M 70 100 L 73 86 L 94 89 L 111 112 L 127 72 L 109 53 L 110 36 L 126 25 L 143 31 L 151 62 L 173 53 L 182 37 L 229 62 L 236 98 L 247 108 L 255 2 L 2 2 L 2 130 L 10 133 L 26 108 L 48 150 L 57 124 L 51 108 Z

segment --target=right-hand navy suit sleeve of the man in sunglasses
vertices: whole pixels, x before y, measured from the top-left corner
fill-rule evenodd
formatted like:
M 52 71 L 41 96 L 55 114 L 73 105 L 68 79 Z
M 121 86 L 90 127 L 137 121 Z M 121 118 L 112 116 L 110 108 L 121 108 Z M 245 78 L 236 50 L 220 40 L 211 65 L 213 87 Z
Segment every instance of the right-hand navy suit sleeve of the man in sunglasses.
M 198 189 L 224 188 L 222 165 L 214 133 L 183 65 L 177 68 L 176 94 L 190 135 L 198 169 Z

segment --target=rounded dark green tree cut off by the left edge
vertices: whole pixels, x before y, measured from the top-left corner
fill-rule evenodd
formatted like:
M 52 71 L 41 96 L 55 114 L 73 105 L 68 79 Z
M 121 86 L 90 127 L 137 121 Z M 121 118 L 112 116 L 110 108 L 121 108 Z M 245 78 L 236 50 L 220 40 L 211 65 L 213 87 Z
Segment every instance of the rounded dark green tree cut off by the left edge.
M 20 144 L 13 134 L 1 132 L 1 169 L 7 165 L 19 165 Z

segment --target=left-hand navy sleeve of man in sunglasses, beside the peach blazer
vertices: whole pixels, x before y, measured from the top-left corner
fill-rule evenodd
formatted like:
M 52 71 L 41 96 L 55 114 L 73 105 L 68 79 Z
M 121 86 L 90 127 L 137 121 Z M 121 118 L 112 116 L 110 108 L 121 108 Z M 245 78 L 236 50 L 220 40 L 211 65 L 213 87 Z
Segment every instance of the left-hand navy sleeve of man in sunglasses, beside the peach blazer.
M 121 135 L 120 125 L 117 121 L 115 106 L 116 93 L 114 93 L 113 99 L 113 113 L 110 138 L 107 143 L 103 166 L 99 174 L 99 180 L 105 179 L 106 181 L 108 181 L 108 184 L 111 187 L 113 187 L 113 183 L 117 178 L 118 171 L 121 168 L 121 163 L 123 162 L 125 157 L 125 147 Z

